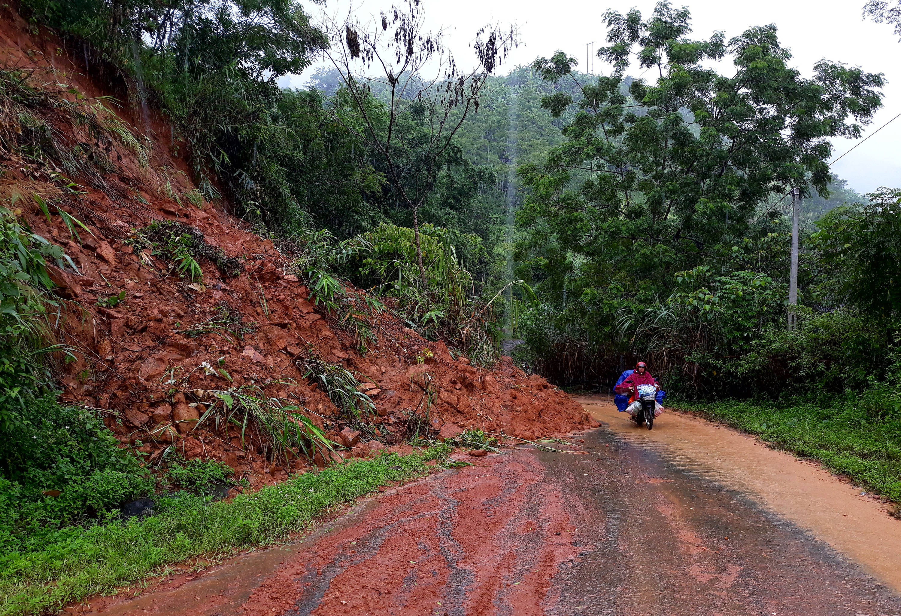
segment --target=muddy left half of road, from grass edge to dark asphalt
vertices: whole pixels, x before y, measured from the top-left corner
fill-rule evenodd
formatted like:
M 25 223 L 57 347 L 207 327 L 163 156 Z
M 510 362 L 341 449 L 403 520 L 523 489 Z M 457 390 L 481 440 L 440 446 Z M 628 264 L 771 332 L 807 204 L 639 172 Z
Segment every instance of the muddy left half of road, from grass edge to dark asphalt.
M 553 477 L 521 453 L 401 486 L 299 547 L 175 576 L 136 598 L 94 597 L 66 613 L 544 613 L 557 600 L 560 564 L 581 548 Z

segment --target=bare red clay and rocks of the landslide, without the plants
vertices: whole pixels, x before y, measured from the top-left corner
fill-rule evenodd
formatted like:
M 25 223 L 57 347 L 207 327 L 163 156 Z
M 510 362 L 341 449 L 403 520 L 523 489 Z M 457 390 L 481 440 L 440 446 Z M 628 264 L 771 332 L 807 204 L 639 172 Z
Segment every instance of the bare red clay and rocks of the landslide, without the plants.
M 86 97 L 109 94 L 83 75 L 80 57 L 62 41 L 44 31 L 33 36 L 8 7 L 0 14 L 0 65 L 5 69 L 33 69 L 34 84 L 66 82 Z M 147 133 L 150 164 L 141 168 L 120 143 L 97 143 L 105 148 L 114 172 L 102 178 L 73 178 L 83 187 L 77 193 L 64 193 L 43 170 L 0 154 L 0 203 L 5 198 L 8 206 L 16 191 L 37 192 L 53 204 L 51 213 L 60 207 L 90 229 L 90 235 L 81 232 L 79 243 L 59 215 L 48 222 L 40 211 L 27 211 L 25 200 L 15 206 L 26 210 L 20 214 L 35 233 L 62 246 L 78 267 L 77 274 L 51 267 L 59 287 L 55 292 L 68 313 L 59 342 L 76 349 L 76 361 L 60 366 L 62 400 L 110 411 L 107 425 L 123 446 L 140 441 L 141 451 L 153 459 L 164 446 L 174 444 L 187 458 L 222 460 L 251 484 L 278 481 L 288 469 L 265 462 L 259 446 L 245 450 L 233 431 L 195 428 L 195 420 L 205 404 L 215 400 L 211 391 L 253 384 L 268 397 L 308 409 L 305 415 L 340 442 L 345 420 L 298 366 L 298 359 L 310 356 L 353 372 L 376 405 L 378 414 L 367 419 L 355 455 L 382 447 L 378 441 L 366 444 L 375 434 L 388 445 L 401 440 L 410 413 L 422 407 L 423 372 L 431 374 L 438 394 L 429 417 L 434 435 L 441 428 L 448 435 L 471 427 L 532 439 L 596 425 L 578 404 L 541 377 L 524 374 L 509 358 L 490 369 L 468 365 L 465 358 L 455 361 L 443 342 L 423 339 L 387 313 L 376 324 L 378 345 L 365 356 L 359 354 L 352 336 L 307 300 L 309 290 L 272 241 L 251 233 L 248 225 L 228 214 L 225 203 L 204 202 L 201 208 L 190 204 L 185 195 L 195 186 L 179 171 L 187 166 L 177 152 L 170 152 L 168 130 L 141 113 L 133 114 L 144 116 L 135 121 L 129 108 L 124 105 L 116 113 L 133 132 Z M 44 120 L 73 143 L 91 138 L 54 114 L 46 112 Z M 177 202 L 172 194 L 182 197 Z M 125 240 L 135 229 L 158 220 L 195 228 L 206 244 L 240 262 L 240 275 L 223 276 L 212 262 L 202 260 L 203 280 L 192 283 L 172 275 L 171 263 L 158 256 L 135 254 Z M 122 304 L 97 305 L 98 299 L 122 291 Z M 220 307 L 241 315 L 252 333 L 237 344 L 215 334 L 179 333 L 219 314 Z M 423 355 L 425 363 L 417 363 Z M 205 370 L 203 363 L 217 370 L 221 366 L 233 382 L 209 374 L 214 371 Z M 296 459 L 292 465 L 299 469 L 305 462 Z

